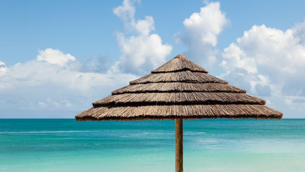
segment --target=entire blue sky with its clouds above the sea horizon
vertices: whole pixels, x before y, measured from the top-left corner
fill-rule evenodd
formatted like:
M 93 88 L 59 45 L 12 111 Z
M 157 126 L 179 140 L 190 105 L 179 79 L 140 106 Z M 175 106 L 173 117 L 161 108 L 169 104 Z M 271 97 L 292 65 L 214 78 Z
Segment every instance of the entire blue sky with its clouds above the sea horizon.
M 1 1 L 0 117 L 73 117 L 182 53 L 301 118 L 304 22 L 304 0 Z

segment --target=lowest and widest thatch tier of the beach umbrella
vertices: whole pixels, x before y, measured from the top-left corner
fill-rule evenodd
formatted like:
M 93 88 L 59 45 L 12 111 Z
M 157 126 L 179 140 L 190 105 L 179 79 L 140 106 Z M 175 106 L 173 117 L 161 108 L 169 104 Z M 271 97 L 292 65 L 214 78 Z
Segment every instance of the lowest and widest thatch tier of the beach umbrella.
M 143 120 L 194 118 L 278 118 L 282 114 L 263 105 L 164 105 L 98 107 L 79 115 L 77 120 Z

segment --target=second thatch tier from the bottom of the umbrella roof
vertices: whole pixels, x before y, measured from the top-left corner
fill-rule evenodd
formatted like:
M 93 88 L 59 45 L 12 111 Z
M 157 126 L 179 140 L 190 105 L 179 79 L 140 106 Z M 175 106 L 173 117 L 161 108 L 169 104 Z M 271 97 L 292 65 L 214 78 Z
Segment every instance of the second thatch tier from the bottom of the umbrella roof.
M 137 106 L 137 105 L 189 105 L 189 104 L 256 104 L 264 105 L 265 100 L 244 93 L 231 92 L 150 92 L 126 93 L 108 96 L 94 102 L 100 106 Z

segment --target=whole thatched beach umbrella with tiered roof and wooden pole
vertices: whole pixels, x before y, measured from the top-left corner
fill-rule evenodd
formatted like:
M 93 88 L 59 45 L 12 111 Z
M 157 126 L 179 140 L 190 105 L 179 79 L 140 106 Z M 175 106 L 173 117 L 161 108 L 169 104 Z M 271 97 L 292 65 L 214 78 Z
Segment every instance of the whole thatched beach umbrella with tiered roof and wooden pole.
M 265 100 L 207 73 L 178 55 L 151 74 L 94 102 L 93 108 L 76 115 L 76 120 L 175 119 L 176 172 L 182 172 L 183 119 L 282 117 L 282 113 L 264 106 Z

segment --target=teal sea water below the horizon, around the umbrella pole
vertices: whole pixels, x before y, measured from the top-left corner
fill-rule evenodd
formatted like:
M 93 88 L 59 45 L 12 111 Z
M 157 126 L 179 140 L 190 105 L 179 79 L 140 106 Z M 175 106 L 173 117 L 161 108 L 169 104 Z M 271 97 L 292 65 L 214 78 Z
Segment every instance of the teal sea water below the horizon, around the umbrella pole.
M 200 119 L 185 172 L 305 172 L 305 119 Z M 0 119 L 0 172 L 174 172 L 175 121 Z

